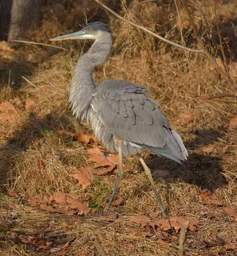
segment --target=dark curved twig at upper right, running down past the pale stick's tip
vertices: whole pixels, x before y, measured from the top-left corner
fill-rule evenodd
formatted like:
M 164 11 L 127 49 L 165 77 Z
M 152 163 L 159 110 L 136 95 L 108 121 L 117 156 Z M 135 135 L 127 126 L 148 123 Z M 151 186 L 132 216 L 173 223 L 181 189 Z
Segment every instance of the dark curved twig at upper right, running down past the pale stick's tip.
M 190 13 L 190 11 L 188 10 L 188 6 L 185 0 L 181 0 L 182 4 L 183 4 L 183 8 L 185 9 L 185 12 L 188 15 L 188 20 L 192 26 L 192 29 L 194 31 L 194 36 L 197 40 L 197 44 L 199 45 L 199 47 L 203 50 L 204 54 L 206 54 L 207 58 L 210 60 L 210 62 L 213 64 L 213 66 L 218 70 L 218 73 L 220 75 L 222 75 L 223 77 L 226 77 L 229 81 L 231 81 L 233 83 L 233 80 L 231 79 L 231 77 L 228 76 L 228 74 L 226 72 L 224 72 L 218 65 L 217 62 L 214 60 L 213 56 L 211 56 L 210 52 L 208 52 L 208 50 L 206 49 L 206 47 L 204 46 L 199 33 L 197 31 L 197 27 L 194 23 L 194 19 L 192 18 L 192 15 Z

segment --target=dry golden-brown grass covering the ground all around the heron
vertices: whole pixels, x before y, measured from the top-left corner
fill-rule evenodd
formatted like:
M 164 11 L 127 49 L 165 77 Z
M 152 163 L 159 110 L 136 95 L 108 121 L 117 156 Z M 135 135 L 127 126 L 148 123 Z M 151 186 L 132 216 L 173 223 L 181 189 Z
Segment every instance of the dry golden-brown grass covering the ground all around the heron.
M 123 6 L 121 13 L 149 29 L 157 29 L 159 33 L 169 31 L 167 37 L 181 44 L 176 8 L 169 1 L 164 2 L 168 4 L 161 8 L 153 1 L 132 1 L 132 6 L 129 9 Z M 200 22 L 200 10 L 203 9 L 198 8 L 199 1 L 195 1 L 197 5 L 193 10 L 203 38 L 208 34 L 207 24 L 212 26 L 212 2 L 205 2 L 206 23 Z M 225 29 L 229 28 L 231 36 L 233 31 L 227 24 L 236 20 L 236 14 L 231 11 L 233 4 L 234 1 L 229 1 L 217 6 L 222 17 L 219 22 Z M 222 12 L 223 8 L 226 12 Z M 182 14 L 181 18 L 187 45 L 195 47 L 185 15 Z M 151 90 L 187 145 L 190 157 L 185 166 L 146 155 L 169 214 L 197 220 L 197 230 L 188 233 L 188 243 L 192 239 L 204 239 L 208 244 L 204 248 L 189 245 L 187 255 L 235 255 L 234 250 L 225 247 L 235 242 L 236 224 L 227 216 L 224 207 L 236 208 L 236 132 L 228 129 L 229 120 L 236 115 L 236 98 L 210 99 L 220 94 L 233 95 L 231 87 L 211 70 L 203 55 L 185 55 L 124 22 L 112 17 L 109 22 L 114 50 L 111 58 L 96 68 L 95 81 L 125 79 Z M 66 32 L 65 24 L 59 23 L 57 17 L 46 15 L 42 26 L 31 36 L 37 42 L 47 43 L 49 38 Z M 231 38 L 230 42 L 233 40 Z M 126 161 L 134 171 L 125 173 L 119 188 L 117 197 L 124 199 L 124 205 L 112 207 L 118 212 L 117 219 L 101 214 L 111 195 L 115 175 L 96 178 L 85 191 L 70 175 L 70 166 L 91 165 L 86 146 L 69 139 L 61 140 L 56 131 L 88 132 L 90 128 L 75 120 L 66 104 L 73 67 L 83 44 L 67 42 L 62 45 L 68 49 L 72 47 L 73 51 L 16 45 L 14 56 L 4 58 L 0 64 L 1 100 L 9 100 L 17 110 L 14 120 L 0 120 L 0 182 L 3 185 L 0 223 L 10 231 L 17 230 L 31 237 L 45 232 L 56 237 L 62 234 L 61 242 L 73 237 L 67 250 L 54 255 L 98 255 L 89 237 L 91 231 L 97 234 L 108 255 L 178 255 L 178 241 L 170 239 L 171 246 L 166 247 L 142 236 L 141 228 L 129 221 L 129 217 L 135 214 L 158 218 L 160 212 L 136 157 Z M 218 52 L 216 45 L 217 42 L 211 46 L 213 52 Z M 228 51 L 228 56 L 237 54 L 233 47 Z M 22 75 L 31 83 L 22 79 Z M 36 108 L 31 112 L 25 108 L 27 99 L 36 102 Z M 194 116 L 194 121 L 185 124 L 184 114 Z M 20 199 L 8 196 L 13 188 L 22 195 Z M 210 190 L 212 195 L 201 198 L 198 195 L 202 189 Z M 26 200 L 27 196 L 43 199 L 46 194 L 52 195 L 56 191 L 89 195 L 93 212 L 82 217 L 63 216 L 35 209 Z M 213 204 L 214 200 L 223 206 Z M 1 238 L 0 253 L 47 255 L 47 251 L 37 251 L 33 244 L 22 243 L 9 236 Z

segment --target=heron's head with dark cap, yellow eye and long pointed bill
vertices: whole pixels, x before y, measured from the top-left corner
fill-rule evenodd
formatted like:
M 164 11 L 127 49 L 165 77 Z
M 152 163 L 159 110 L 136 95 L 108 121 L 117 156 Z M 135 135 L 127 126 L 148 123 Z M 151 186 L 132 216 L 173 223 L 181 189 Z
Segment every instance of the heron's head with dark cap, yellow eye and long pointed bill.
M 50 41 L 79 40 L 79 39 L 99 39 L 105 33 L 110 33 L 109 27 L 102 22 L 91 22 L 80 31 L 68 35 L 58 36 Z

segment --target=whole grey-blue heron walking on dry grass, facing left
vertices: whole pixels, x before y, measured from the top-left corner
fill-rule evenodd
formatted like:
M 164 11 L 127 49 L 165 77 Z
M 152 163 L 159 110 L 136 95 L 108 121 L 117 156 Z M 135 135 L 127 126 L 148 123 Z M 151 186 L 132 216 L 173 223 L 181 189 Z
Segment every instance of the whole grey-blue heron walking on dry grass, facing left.
M 160 104 L 147 97 L 146 88 L 123 80 L 106 80 L 96 85 L 92 72 L 109 56 L 112 36 L 109 27 L 102 22 L 91 22 L 80 31 L 58 36 L 51 41 L 95 40 L 75 66 L 68 101 L 73 115 L 91 124 L 95 137 L 111 152 L 118 152 L 119 170 L 109 204 L 123 176 L 123 156 L 137 155 L 157 198 L 162 215 L 162 201 L 141 153 L 151 152 L 178 163 L 187 160 L 188 152 L 180 135 L 171 128 Z

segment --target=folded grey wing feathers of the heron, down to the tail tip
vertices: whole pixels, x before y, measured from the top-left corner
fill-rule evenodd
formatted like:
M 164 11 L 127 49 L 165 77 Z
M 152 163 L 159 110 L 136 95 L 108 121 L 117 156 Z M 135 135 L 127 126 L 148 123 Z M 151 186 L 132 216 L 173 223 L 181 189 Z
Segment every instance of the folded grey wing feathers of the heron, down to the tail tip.
M 149 91 L 126 81 L 103 81 L 94 93 L 100 121 L 115 138 L 157 151 L 157 154 L 163 152 L 166 157 L 187 159 L 180 136 L 171 130 L 167 118 L 157 108 L 160 104 L 145 93 Z

